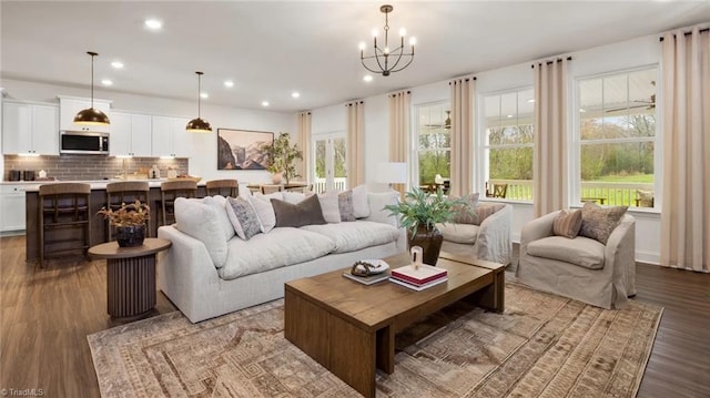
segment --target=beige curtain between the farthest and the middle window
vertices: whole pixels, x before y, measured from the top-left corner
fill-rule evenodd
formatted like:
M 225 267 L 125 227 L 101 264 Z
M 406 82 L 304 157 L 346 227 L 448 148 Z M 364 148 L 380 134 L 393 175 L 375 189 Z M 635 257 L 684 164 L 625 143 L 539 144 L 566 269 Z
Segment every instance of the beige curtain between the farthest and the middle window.
M 452 90 L 452 170 L 449 194 L 462 196 L 474 190 L 474 126 L 476 79 L 456 79 Z

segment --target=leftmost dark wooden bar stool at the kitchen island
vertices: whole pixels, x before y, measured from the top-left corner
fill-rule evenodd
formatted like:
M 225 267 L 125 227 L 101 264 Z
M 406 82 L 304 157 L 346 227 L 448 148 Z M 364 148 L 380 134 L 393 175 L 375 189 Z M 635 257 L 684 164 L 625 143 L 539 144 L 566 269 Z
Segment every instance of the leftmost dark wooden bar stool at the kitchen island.
M 91 185 L 43 184 L 39 197 L 40 267 L 48 254 L 82 251 L 85 257 L 91 246 Z

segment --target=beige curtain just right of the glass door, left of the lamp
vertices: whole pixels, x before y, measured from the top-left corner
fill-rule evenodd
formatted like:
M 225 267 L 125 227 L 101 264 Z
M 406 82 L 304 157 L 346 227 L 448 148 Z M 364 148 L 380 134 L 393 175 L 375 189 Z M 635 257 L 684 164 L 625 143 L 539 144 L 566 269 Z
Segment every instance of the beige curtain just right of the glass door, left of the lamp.
M 365 183 L 365 104 L 355 101 L 347 108 L 347 186 Z

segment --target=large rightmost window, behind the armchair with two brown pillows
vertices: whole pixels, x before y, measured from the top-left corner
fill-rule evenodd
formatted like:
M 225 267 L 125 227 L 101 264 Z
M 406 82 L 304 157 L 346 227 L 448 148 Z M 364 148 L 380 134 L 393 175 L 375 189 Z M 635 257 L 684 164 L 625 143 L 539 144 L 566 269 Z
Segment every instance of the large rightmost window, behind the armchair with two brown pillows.
M 655 207 L 658 68 L 578 81 L 577 198 Z

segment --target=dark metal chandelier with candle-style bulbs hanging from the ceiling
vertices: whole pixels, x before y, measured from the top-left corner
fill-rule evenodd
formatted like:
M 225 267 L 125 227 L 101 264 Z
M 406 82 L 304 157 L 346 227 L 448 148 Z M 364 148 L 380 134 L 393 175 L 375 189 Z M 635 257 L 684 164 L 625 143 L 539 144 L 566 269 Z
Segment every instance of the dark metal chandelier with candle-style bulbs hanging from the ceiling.
M 416 43 L 416 39 L 409 39 L 412 50 L 409 52 L 405 52 L 404 37 L 406 35 L 406 31 L 404 28 L 399 30 L 399 47 L 396 49 L 389 48 L 389 19 L 387 17 L 392 10 L 394 10 L 394 7 L 389 4 L 385 4 L 379 8 L 379 11 L 385 13 L 385 47 L 382 48 L 377 45 L 377 30 L 373 31 L 374 53 L 372 55 L 365 57 L 365 43 L 359 43 L 359 60 L 363 62 L 363 67 L 373 73 L 382 73 L 383 76 L 388 76 L 392 72 L 399 72 L 400 70 L 409 67 L 414 60 L 414 44 Z M 371 65 L 368 67 L 367 63 Z

